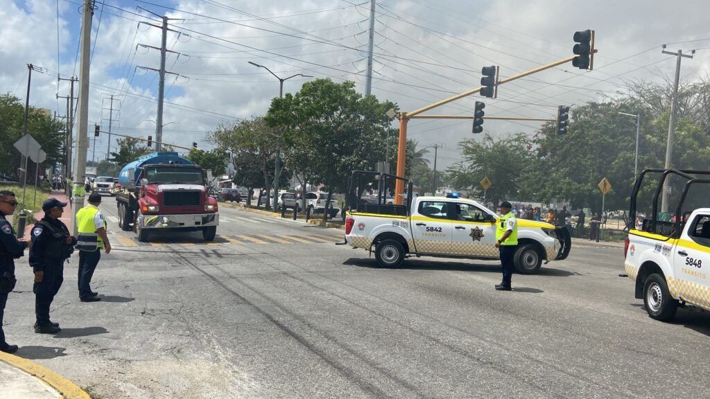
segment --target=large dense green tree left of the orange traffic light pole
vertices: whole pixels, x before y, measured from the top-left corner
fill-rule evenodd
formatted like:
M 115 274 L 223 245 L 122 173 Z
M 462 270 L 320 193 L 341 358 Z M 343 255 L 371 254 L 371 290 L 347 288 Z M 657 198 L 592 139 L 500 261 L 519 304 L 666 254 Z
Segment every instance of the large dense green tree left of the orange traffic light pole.
M 346 190 L 353 170 L 373 170 L 383 160 L 390 124 L 385 113 L 394 107 L 361 96 L 353 82 L 317 79 L 294 95 L 273 99 L 266 119 L 283 132 L 291 167 L 324 184 L 330 200 L 333 192 Z

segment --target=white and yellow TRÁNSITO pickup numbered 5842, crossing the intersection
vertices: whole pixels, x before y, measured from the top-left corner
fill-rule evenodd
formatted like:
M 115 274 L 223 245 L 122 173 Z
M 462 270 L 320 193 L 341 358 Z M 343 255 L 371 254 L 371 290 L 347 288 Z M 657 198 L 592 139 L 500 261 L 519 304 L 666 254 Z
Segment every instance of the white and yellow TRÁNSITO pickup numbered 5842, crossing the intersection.
M 491 260 L 499 258 L 497 220 L 491 209 L 457 197 L 415 197 L 408 206 L 361 204 L 347 212 L 345 240 L 374 251 L 378 264 L 388 268 L 408 256 Z M 518 243 L 515 268 L 524 274 L 569 254 L 569 232 L 552 224 L 518 219 Z

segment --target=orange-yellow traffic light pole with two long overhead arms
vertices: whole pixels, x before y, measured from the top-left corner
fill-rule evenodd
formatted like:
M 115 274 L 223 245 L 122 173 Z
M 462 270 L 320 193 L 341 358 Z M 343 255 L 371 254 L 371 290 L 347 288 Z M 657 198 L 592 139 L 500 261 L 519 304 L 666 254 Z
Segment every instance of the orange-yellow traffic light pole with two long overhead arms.
M 594 48 L 591 49 L 591 53 L 594 54 L 596 53 L 596 50 Z M 577 55 L 572 55 L 571 57 L 563 58 L 562 60 L 552 62 L 547 65 L 542 65 L 541 67 L 537 67 L 532 70 L 528 70 L 526 72 L 522 72 L 518 75 L 514 75 L 511 77 L 508 77 L 506 79 L 503 79 L 499 82 L 496 83 L 496 87 L 499 84 L 503 83 L 508 83 L 508 82 L 513 82 L 513 80 L 520 79 L 521 77 L 526 77 L 529 75 L 532 75 L 534 73 L 544 71 L 544 70 L 549 70 L 552 67 L 557 67 L 557 65 L 562 65 L 564 63 L 570 62 L 574 60 L 574 58 L 577 57 Z M 397 149 L 397 176 L 404 178 L 405 176 L 405 162 L 406 162 L 406 155 L 407 155 L 407 123 L 410 119 L 473 119 L 472 116 L 457 116 L 457 115 L 420 115 L 422 112 L 429 111 L 430 109 L 434 109 L 437 106 L 442 106 L 444 104 L 448 104 L 449 102 L 456 101 L 457 99 L 462 99 L 464 97 L 468 97 L 471 94 L 476 94 L 481 91 L 483 87 L 478 87 L 476 89 L 469 90 L 468 92 L 463 92 L 461 94 L 457 94 L 454 97 L 449 97 L 447 99 L 443 99 L 439 102 L 435 102 L 434 104 L 429 104 L 427 106 L 423 106 L 420 109 L 417 109 L 415 111 L 411 112 L 400 112 L 398 115 L 398 118 L 400 120 L 400 133 L 399 133 L 399 141 L 398 141 L 398 149 Z M 525 120 L 525 121 L 555 121 L 556 119 L 521 119 L 521 118 L 507 118 L 507 117 L 501 117 L 501 116 L 484 116 L 484 119 L 507 119 L 507 120 Z M 404 202 L 404 180 L 397 180 L 396 185 L 395 185 L 395 204 L 401 205 Z

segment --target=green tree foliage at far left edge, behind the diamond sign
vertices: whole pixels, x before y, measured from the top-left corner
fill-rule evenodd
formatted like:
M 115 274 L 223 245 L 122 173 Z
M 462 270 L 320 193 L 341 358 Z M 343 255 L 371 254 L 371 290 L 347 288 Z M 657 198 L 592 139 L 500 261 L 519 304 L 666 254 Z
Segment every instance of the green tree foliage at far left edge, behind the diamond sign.
M 0 94 L 0 172 L 14 173 L 20 165 L 20 153 L 13 143 L 23 136 L 25 106 L 11 94 Z M 64 163 L 65 124 L 53 119 L 40 109 L 30 107 L 27 120 L 27 132 L 40 143 L 47 153 L 45 165 Z M 34 166 L 28 163 L 28 181 L 34 178 Z

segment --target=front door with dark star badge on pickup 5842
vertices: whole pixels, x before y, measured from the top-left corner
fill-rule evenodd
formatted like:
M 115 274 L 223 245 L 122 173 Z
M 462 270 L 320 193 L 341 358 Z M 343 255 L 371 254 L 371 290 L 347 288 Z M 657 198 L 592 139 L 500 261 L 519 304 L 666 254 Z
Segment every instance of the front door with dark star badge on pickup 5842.
M 454 223 L 452 255 L 498 258 L 496 222 L 483 209 L 465 202 L 452 202 Z

